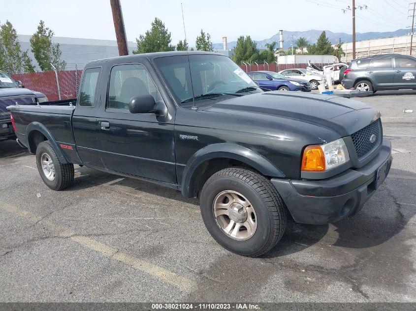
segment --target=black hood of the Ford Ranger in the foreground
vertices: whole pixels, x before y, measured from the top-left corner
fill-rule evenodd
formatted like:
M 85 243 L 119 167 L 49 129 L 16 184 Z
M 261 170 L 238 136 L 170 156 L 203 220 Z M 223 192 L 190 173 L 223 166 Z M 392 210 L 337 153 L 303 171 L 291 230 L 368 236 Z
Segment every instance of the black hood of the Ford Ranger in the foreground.
M 293 92 L 294 93 L 294 92 Z M 272 91 L 217 102 L 205 112 L 230 113 L 269 126 L 298 122 L 330 129 L 340 137 L 351 135 L 377 119 L 380 113 L 362 102 L 334 95 Z

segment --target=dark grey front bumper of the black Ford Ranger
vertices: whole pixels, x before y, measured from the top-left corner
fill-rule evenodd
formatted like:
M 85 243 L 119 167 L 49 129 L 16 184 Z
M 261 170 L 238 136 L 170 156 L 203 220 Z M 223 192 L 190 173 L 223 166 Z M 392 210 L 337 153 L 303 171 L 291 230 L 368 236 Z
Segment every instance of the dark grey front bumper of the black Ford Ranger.
M 391 161 L 391 143 L 384 140 L 378 155 L 360 169 L 323 180 L 273 178 L 271 182 L 296 222 L 329 224 L 361 210 L 384 181 Z

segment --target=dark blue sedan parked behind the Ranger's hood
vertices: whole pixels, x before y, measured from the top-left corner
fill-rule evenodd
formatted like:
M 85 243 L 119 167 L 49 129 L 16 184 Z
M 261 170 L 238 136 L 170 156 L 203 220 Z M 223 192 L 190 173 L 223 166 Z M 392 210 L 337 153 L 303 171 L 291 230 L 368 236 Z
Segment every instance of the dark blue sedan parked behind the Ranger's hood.
M 303 91 L 310 92 L 309 81 L 295 78 L 288 78 L 273 71 L 252 71 L 247 73 L 258 86 L 272 91 Z

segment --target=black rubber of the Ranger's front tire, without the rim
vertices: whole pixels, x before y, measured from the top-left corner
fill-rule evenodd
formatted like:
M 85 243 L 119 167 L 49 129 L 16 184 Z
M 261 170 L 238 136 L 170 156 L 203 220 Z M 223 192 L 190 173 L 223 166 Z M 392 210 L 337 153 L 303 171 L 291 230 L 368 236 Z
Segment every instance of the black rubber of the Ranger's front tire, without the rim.
M 235 191 L 248 199 L 256 213 L 256 230 L 246 240 L 228 236 L 214 216 L 214 202 L 224 191 Z M 259 173 L 241 167 L 220 170 L 204 184 L 200 207 L 202 219 L 211 236 L 225 249 L 256 257 L 269 252 L 285 232 L 286 205 L 273 184 Z

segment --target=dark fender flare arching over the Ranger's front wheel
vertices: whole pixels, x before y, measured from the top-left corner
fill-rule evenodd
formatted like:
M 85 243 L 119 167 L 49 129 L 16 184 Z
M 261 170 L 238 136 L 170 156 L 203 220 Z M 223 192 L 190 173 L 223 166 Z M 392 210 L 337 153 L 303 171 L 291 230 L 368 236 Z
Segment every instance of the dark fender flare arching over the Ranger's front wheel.
M 185 197 L 193 196 L 195 173 L 198 167 L 205 161 L 216 158 L 240 161 L 265 176 L 285 177 L 285 174 L 273 163 L 253 150 L 232 143 L 215 143 L 196 151 L 185 166 L 181 183 L 181 191 Z

